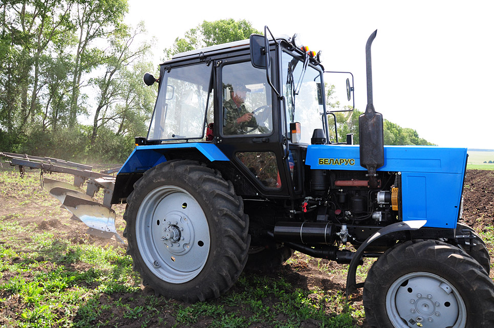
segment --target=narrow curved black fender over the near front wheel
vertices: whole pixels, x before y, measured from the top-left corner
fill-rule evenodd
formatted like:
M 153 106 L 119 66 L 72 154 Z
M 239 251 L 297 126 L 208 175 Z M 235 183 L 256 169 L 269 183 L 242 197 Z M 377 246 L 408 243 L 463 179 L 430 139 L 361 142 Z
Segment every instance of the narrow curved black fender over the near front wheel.
M 426 223 L 427 220 L 410 220 L 410 221 L 397 222 L 380 229 L 379 231 L 371 235 L 369 238 L 367 238 L 366 241 L 363 242 L 362 245 L 358 247 L 357 251 L 352 257 L 352 260 L 350 261 L 350 265 L 348 266 L 347 289 L 346 289 L 347 298 L 348 295 L 350 295 L 350 293 L 354 292 L 356 289 L 357 281 L 355 276 L 357 273 L 357 266 L 360 262 L 360 259 L 362 258 L 362 253 L 366 250 L 366 248 L 370 244 L 372 244 L 372 242 L 390 233 L 395 233 L 398 231 L 418 230 L 422 228 Z

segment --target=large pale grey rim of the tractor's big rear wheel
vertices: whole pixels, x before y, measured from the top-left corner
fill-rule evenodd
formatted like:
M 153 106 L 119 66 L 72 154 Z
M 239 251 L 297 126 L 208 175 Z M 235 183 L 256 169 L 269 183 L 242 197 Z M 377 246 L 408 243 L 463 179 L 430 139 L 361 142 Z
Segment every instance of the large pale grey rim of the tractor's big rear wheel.
M 147 194 L 137 212 L 136 240 L 149 270 L 171 283 L 196 277 L 209 255 L 206 215 L 196 199 L 177 186 Z

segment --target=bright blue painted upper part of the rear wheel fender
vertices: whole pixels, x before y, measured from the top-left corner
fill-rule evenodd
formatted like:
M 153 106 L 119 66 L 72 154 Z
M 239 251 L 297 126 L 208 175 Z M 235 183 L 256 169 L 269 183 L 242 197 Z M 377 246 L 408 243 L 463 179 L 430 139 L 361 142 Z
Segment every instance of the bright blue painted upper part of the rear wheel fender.
M 137 146 L 120 168 L 118 174 L 147 171 L 160 163 L 166 162 L 164 154 L 167 150 L 177 148 L 196 148 L 211 162 L 228 161 L 228 158 L 223 152 L 221 152 L 216 145 L 211 143 L 191 142 Z

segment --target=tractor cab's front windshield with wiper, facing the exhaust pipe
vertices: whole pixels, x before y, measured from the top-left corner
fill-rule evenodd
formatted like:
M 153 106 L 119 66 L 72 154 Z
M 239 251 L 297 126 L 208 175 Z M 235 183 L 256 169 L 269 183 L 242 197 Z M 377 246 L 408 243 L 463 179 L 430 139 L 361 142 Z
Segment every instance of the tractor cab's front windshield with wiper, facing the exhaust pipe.
M 314 129 L 324 129 L 321 74 L 307 62 L 283 52 L 282 77 L 287 123 L 300 122 L 300 142 L 310 144 Z

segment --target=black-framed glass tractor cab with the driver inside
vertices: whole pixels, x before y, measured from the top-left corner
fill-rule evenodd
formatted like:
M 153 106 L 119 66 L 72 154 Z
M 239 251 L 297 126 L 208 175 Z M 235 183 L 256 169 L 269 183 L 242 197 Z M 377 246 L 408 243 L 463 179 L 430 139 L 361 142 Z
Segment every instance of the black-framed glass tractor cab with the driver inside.
M 177 54 L 161 64 L 143 144 L 214 144 L 238 194 L 300 197 L 307 145 L 330 143 L 324 73 L 320 53 L 296 45 L 296 37 L 252 35 Z M 353 78 L 347 83 L 350 100 Z M 176 152 L 161 151 L 168 160 Z

